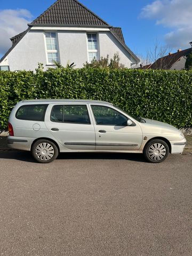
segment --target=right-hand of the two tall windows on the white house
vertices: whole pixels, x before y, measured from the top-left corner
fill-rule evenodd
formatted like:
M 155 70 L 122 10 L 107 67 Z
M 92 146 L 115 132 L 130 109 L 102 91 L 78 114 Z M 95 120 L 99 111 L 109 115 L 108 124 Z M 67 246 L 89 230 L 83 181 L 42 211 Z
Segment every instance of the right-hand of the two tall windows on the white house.
M 99 59 L 99 47 L 98 47 L 98 35 L 97 34 L 87 34 L 87 51 L 88 51 L 88 61 L 91 62 L 94 58 Z

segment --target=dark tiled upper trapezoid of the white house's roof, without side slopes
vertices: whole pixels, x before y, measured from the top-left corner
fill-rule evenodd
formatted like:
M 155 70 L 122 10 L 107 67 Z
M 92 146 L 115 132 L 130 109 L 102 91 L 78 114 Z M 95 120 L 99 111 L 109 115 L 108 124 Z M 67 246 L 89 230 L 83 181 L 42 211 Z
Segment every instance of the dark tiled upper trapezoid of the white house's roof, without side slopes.
M 29 25 L 109 26 L 77 0 L 57 0 Z

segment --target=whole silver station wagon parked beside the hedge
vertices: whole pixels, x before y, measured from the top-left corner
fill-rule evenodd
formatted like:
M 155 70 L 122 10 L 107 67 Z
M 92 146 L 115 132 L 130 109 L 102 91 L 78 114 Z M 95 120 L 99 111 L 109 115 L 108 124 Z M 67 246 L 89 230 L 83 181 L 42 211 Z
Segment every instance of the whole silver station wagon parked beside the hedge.
M 39 163 L 60 152 L 143 153 L 160 163 L 169 153 L 182 153 L 186 139 L 169 124 L 134 117 L 109 102 L 47 99 L 13 108 L 8 145 L 31 151 Z

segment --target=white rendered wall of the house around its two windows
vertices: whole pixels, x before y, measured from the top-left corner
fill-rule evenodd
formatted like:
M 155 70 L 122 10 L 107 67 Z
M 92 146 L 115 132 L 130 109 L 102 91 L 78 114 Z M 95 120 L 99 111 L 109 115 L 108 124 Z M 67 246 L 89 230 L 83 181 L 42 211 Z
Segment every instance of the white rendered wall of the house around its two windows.
M 134 60 L 131 59 L 130 53 L 125 50 L 113 34 L 109 31 L 100 31 L 98 37 L 100 57 L 106 57 L 109 54 L 109 58 L 113 58 L 114 54 L 118 52 L 121 58 L 120 62 L 125 67 L 131 67 L 131 62 Z M 86 31 L 59 30 L 58 41 L 61 65 L 66 67 L 69 61 L 69 63 L 75 62 L 76 68 L 83 67 L 83 63 L 88 60 Z M 35 70 L 38 62 L 43 63 L 44 70 L 46 70 L 49 66 L 46 66 L 44 31 L 30 30 L 7 55 L 6 59 L 9 60 L 12 71 L 19 69 Z

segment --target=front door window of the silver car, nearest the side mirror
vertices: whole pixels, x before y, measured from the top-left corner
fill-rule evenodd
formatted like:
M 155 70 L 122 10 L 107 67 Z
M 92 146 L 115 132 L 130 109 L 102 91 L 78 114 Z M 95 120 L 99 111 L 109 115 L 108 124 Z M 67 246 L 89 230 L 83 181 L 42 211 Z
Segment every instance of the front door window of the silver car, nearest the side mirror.
M 127 125 L 127 117 L 115 109 L 97 105 L 92 105 L 91 108 L 97 124 L 118 126 Z

